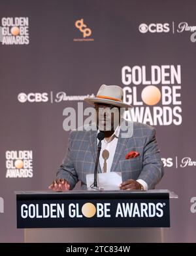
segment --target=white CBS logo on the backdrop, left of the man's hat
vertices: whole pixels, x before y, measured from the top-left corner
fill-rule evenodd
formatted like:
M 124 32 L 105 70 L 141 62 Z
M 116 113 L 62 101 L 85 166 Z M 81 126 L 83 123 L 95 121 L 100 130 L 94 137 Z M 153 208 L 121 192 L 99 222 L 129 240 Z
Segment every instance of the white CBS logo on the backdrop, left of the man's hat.
M 24 103 L 28 102 L 47 102 L 48 101 L 48 93 L 19 93 L 18 101 Z

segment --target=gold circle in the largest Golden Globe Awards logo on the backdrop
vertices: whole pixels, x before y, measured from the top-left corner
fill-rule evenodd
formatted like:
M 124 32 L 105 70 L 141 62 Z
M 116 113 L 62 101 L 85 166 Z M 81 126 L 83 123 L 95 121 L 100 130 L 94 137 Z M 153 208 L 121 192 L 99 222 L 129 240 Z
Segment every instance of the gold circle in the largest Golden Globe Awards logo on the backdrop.
M 161 100 L 161 92 L 154 85 L 146 86 L 142 90 L 142 100 L 146 105 L 155 105 Z

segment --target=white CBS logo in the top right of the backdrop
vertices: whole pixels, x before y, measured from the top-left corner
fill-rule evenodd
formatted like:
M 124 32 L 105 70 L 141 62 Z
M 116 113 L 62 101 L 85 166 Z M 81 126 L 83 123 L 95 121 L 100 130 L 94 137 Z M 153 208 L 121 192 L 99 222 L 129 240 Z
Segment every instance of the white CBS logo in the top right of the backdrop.
M 151 32 L 151 33 L 161 33 L 161 32 L 165 32 L 168 33 L 169 32 L 169 23 L 152 23 L 150 25 L 147 25 L 145 23 L 140 24 L 139 26 L 139 31 L 141 33 L 146 33 L 146 32 Z

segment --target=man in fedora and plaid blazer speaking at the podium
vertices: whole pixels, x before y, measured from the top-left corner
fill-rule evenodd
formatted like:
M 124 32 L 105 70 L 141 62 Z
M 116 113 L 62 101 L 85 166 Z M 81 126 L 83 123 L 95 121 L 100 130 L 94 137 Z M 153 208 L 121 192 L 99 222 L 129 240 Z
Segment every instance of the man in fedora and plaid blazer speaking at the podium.
M 98 173 L 108 181 L 120 173 L 121 190 L 154 189 L 163 177 L 154 127 L 123 119 L 132 106 L 123 103 L 123 89 L 117 85 L 101 85 L 97 95 L 85 101 L 95 108 L 95 129 L 71 131 L 67 154 L 49 188 L 72 190 L 81 181 L 86 189 L 89 175 L 95 172 L 94 177 Z

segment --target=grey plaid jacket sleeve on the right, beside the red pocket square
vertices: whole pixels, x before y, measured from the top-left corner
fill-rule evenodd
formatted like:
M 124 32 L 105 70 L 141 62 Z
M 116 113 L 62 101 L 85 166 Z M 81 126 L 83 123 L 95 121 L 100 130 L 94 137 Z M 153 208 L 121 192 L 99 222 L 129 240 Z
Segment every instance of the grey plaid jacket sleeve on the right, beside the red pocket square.
M 155 137 L 155 129 L 153 128 L 150 129 L 150 135 L 146 137 L 144 143 L 142 171 L 138 179 L 146 181 L 148 189 L 154 189 L 163 174 L 163 163 Z

